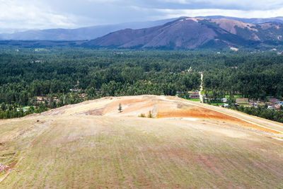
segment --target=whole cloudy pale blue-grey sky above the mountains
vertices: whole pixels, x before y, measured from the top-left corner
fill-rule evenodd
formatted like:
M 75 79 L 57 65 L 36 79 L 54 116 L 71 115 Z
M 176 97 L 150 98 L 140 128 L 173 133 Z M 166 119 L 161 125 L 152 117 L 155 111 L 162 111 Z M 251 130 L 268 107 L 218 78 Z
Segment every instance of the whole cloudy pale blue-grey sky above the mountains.
M 283 16 L 282 0 L 0 0 L 0 28 L 79 28 L 180 16 Z

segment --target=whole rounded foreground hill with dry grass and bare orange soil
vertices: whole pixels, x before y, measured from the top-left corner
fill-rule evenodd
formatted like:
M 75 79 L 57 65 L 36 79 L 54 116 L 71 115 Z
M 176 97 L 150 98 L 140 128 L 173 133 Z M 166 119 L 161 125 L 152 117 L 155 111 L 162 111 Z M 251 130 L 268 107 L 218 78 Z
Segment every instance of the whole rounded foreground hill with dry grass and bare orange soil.
M 283 188 L 282 132 L 175 97 L 101 98 L 1 120 L 0 188 Z

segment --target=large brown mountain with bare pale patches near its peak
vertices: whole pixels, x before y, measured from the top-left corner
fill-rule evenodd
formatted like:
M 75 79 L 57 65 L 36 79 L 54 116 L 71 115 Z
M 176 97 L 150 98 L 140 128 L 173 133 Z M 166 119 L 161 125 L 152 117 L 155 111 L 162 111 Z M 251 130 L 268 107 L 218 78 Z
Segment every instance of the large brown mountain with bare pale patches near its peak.
M 179 18 L 139 30 L 119 30 L 86 42 L 88 47 L 195 49 L 283 44 L 282 23 L 243 23 L 227 18 Z

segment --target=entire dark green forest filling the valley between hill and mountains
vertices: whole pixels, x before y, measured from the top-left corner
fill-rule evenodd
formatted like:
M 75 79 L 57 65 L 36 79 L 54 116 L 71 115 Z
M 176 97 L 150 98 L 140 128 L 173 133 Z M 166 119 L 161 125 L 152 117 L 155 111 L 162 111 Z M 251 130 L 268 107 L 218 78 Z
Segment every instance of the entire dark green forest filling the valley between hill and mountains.
M 175 96 L 180 91 L 188 97 L 187 91 L 200 86 L 199 71 L 210 103 L 236 93 L 253 99 L 283 96 L 283 56 L 276 52 L 7 47 L 0 49 L 0 68 L 0 103 L 13 110 L 33 105 L 33 112 L 39 107 L 36 96 L 57 98 L 56 104 L 44 103 L 46 109 L 103 96 Z M 79 98 L 71 88 L 88 97 Z

